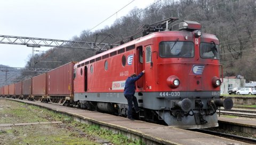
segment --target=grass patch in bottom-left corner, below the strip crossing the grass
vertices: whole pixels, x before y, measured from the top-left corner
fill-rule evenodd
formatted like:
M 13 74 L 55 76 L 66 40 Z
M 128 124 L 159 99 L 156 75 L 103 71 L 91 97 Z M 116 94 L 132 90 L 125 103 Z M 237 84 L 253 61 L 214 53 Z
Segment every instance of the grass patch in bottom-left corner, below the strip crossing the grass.
M 8 132 L 8 144 L 99 144 L 83 136 L 71 135 L 56 125 L 15 126 Z

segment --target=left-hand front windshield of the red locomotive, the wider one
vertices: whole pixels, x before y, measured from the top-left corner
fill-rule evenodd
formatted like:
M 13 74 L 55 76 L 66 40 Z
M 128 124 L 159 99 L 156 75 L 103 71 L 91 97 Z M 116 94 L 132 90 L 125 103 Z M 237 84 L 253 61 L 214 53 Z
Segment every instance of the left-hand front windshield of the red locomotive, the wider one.
M 168 41 L 159 44 L 159 55 L 162 58 L 193 58 L 194 43 Z

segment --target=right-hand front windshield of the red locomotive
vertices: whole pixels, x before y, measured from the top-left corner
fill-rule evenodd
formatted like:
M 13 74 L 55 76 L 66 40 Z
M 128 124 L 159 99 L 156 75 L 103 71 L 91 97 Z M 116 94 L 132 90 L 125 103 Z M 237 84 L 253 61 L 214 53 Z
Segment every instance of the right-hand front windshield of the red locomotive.
M 200 56 L 207 59 L 219 59 L 219 45 L 215 43 L 201 43 Z

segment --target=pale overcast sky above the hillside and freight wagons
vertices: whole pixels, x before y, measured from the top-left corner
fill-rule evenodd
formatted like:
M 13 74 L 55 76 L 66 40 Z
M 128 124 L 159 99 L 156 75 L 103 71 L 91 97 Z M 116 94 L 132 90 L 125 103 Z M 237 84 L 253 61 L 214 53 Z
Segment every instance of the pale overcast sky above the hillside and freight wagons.
M 0 35 L 69 40 L 79 36 L 133 0 L 0 0 Z M 135 0 L 97 29 L 110 26 L 134 7 L 145 8 L 155 0 Z M 45 51 L 51 47 L 35 48 Z M 31 55 L 26 45 L 0 44 L 0 65 L 25 67 Z M 41 53 L 41 52 L 35 52 Z

